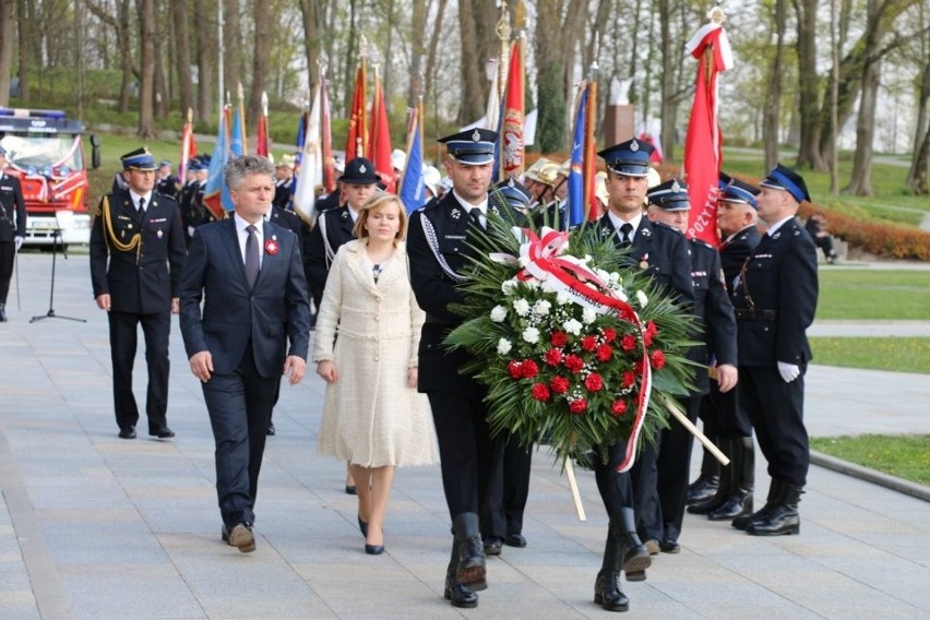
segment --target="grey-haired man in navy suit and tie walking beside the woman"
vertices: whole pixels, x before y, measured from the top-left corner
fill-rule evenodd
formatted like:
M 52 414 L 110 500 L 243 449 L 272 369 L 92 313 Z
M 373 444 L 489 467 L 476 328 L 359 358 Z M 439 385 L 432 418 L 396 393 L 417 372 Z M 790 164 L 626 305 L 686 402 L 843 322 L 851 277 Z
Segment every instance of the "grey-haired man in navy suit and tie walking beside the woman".
M 255 497 L 276 386 L 282 374 L 291 385 L 303 378 L 310 309 L 297 236 L 265 220 L 274 166 L 247 155 L 224 174 L 236 212 L 194 233 L 181 333 L 216 441 L 223 540 L 245 553 L 255 549 Z

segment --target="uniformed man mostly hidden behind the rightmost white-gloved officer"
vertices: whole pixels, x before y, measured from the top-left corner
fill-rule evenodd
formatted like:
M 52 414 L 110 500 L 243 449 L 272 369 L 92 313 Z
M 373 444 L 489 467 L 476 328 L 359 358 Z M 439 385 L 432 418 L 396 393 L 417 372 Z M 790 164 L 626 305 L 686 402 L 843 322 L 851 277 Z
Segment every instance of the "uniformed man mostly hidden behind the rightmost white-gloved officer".
M 717 228 L 720 230 L 720 264 L 727 291 L 732 295 L 743 263 L 761 238 L 755 224 L 759 188 L 739 179 L 730 179 L 717 199 Z M 731 521 L 752 513 L 752 491 L 755 486 L 755 449 L 752 425 L 738 406 L 740 386 L 720 392 L 714 383 L 701 402 L 704 429 L 713 428 L 720 451 L 730 460 L 720 468 L 719 486 L 710 498 L 692 503 L 688 512 L 706 514 L 711 521 Z

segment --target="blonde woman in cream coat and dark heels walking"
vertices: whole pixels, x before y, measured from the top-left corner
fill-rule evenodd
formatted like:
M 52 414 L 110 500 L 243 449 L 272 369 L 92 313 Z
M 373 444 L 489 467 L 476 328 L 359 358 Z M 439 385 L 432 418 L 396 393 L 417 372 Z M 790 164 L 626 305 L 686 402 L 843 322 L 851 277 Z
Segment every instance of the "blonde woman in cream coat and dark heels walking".
M 406 229 L 397 196 L 366 202 L 357 238 L 339 248 L 330 270 L 313 347 L 317 373 L 327 382 L 318 448 L 350 463 L 371 555 L 384 551 L 394 467 L 439 460 L 429 401 L 416 389 L 425 315 L 410 288 Z

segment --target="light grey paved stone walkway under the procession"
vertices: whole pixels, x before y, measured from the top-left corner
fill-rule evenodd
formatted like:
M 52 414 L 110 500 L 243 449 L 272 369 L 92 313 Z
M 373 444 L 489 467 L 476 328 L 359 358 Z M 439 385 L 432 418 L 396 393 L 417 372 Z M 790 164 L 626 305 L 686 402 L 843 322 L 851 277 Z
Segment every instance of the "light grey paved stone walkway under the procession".
M 314 450 L 323 385 L 285 386 L 259 497 L 255 553 L 219 541 L 213 440 L 180 334 L 168 420 L 178 436 L 116 437 L 104 314 L 86 255 L 21 257 L 23 308 L 0 325 L 0 618 L 608 618 L 592 603 L 606 515 L 579 472 L 579 522 L 552 458 L 534 460 L 526 549 L 488 562 L 475 610 L 442 600 L 450 545 L 438 467 L 398 472 L 385 555 L 366 556 L 344 465 Z M 135 391 L 144 396 L 144 362 Z M 812 434 L 930 433 L 930 375 L 812 367 Z M 144 430 L 144 421 L 141 425 Z M 761 460 L 760 460 L 761 461 Z M 764 463 L 758 477 L 765 480 Z M 766 484 L 756 491 L 764 500 Z M 624 583 L 629 618 L 930 618 L 930 504 L 812 467 L 801 535 L 755 538 L 689 515 L 678 556 Z

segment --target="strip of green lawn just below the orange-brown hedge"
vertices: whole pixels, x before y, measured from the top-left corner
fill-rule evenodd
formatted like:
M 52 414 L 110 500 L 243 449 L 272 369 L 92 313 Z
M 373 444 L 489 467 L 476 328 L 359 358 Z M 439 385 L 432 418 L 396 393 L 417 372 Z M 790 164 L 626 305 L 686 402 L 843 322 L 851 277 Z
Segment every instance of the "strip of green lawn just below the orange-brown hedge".
M 816 320 L 930 321 L 930 271 L 823 267 Z

